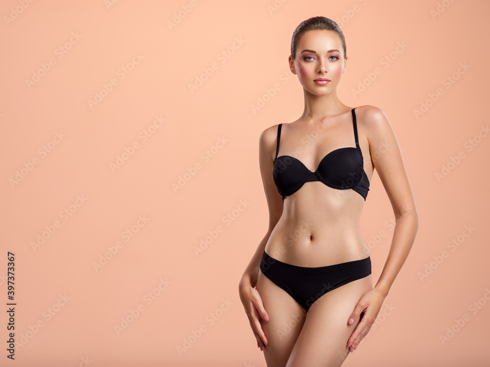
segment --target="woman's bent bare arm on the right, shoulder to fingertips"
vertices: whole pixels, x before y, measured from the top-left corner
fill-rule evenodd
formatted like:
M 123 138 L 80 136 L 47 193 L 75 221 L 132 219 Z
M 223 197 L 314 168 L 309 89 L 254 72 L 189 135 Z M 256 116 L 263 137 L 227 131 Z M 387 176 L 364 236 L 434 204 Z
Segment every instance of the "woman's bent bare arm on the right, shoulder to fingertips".
M 396 275 L 408 257 L 418 229 L 414 195 L 390 121 L 382 110 L 372 106 L 366 108 L 364 115 L 371 159 L 392 204 L 396 224 L 383 271 L 376 285 L 359 300 L 349 318 L 348 323 L 353 324 L 364 312 L 347 342 L 351 352 L 374 323 Z

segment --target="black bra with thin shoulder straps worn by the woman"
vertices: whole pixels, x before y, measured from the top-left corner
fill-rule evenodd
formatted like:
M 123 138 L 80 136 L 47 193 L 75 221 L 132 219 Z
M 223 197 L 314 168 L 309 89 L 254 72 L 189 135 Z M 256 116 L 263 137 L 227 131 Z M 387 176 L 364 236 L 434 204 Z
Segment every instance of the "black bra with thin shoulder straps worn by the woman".
M 355 109 L 352 109 L 354 125 L 354 138 L 356 147 L 335 149 L 320 161 L 315 172 L 310 171 L 298 159 L 291 156 L 279 156 L 279 139 L 281 138 L 281 125 L 277 127 L 277 148 L 272 170 L 277 191 L 284 201 L 285 196 L 294 194 L 308 181 L 321 181 L 327 186 L 346 190 L 351 188 L 366 200 L 369 191 L 368 175 L 364 171 L 364 158 L 359 139 L 357 137 L 357 122 Z

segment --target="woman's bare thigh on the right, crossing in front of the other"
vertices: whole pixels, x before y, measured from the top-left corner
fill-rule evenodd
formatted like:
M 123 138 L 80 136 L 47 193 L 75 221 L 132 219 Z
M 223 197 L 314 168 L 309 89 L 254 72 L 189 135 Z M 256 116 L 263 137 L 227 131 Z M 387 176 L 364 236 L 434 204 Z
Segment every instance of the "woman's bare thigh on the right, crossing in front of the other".
M 371 275 L 354 280 L 321 296 L 310 307 L 286 367 L 341 366 L 347 341 L 359 319 L 347 323 L 357 302 L 372 288 Z

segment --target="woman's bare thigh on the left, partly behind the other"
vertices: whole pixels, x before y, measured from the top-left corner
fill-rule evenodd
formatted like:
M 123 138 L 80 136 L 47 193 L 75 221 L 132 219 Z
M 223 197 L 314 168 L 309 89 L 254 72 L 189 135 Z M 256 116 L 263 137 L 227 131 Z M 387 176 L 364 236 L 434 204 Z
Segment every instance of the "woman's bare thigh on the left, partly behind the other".
M 260 319 L 268 344 L 264 357 L 268 367 L 284 367 L 305 321 L 306 311 L 285 290 L 261 271 L 255 289 L 262 298 L 269 321 Z

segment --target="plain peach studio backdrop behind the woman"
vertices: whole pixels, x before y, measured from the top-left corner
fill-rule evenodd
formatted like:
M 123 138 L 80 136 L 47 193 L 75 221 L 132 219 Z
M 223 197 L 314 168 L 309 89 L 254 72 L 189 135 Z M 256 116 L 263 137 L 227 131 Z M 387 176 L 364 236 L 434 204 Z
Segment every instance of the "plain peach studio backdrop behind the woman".
M 419 214 L 416 242 L 382 308 L 388 316 L 378 315 L 376 328 L 343 366 L 489 365 L 490 137 L 471 151 L 465 145 L 488 126 L 487 1 L 108 6 L 58 0 L 28 2 L 25 9 L 22 3 L 3 1 L 0 12 L 0 294 L 6 304 L 6 255 L 15 252 L 15 333 L 16 342 L 24 341 L 12 365 L 266 366 L 238 295 L 268 224 L 258 138 L 302 113 L 302 88 L 287 59 L 295 27 L 317 15 L 338 21 L 346 38 L 340 99 L 377 106 L 390 118 Z M 444 11 L 433 17 L 438 6 Z M 23 11 L 6 19 L 16 8 Z M 185 17 L 170 28 L 179 12 Z M 398 43 L 406 49 L 392 54 L 385 68 L 381 59 Z M 70 49 L 60 53 L 65 44 Z M 134 53 L 142 60 L 131 65 Z M 26 79 L 50 58 L 54 65 L 29 88 Z M 217 69 L 191 91 L 213 63 Z M 460 63 L 469 69 L 458 73 Z M 128 73 L 118 72 L 127 64 Z M 354 96 L 376 67 L 382 73 Z M 444 80 L 453 73 L 458 78 L 447 89 Z M 88 100 L 112 78 L 118 84 L 91 108 Z M 280 90 L 254 112 L 252 105 L 275 83 Z M 417 118 L 414 110 L 438 88 L 442 95 Z M 164 122 L 144 141 L 139 134 L 155 116 Z M 65 137 L 53 142 L 59 132 Z M 224 145 L 217 144 L 221 137 Z M 139 148 L 113 171 L 111 163 L 134 141 Z M 43 145 L 51 146 L 45 156 L 38 152 Z M 464 158 L 438 181 L 436 172 L 460 151 Z M 38 164 L 12 185 L 16 171 L 34 158 Z M 200 169 L 174 192 L 172 184 L 196 163 Z M 249 203 L 242 212 L 241 201 Z M 71 215 L 60 216 L 70 206 Z M 223 220 L 228 213 L 233 221 Z M 361 218 L 373 284 L 389 250 L 392 218 L 375 173 Z M 31 244 L 56 220 L 59 228 L 34 251 Z M 218 226 L 224 230 L 196 255 L 201 239 Z M 467 237 L 465 226 L 474 228 Z M 131 228 L 132 236 L 123 237 Z M 451 251 L 448 243 L 458 236 L 461 243 Z M 444 250 L 448 257 L 432 263 L 422 281 L 420 272 Z M 96 270 L 104 254 L 111 258 Z M 470 307 L 479 301 L 479 308 Z M 455 319 L 465 314 L 457 330 Z M 122 319 L 131 322 L 117 333 Z M 3 341 L 7 322 L 3 312 Z M 177 347 L 199 327 L 205 331 L 180 355 Z M 456 332 L 442 343 L 448 327 Z

